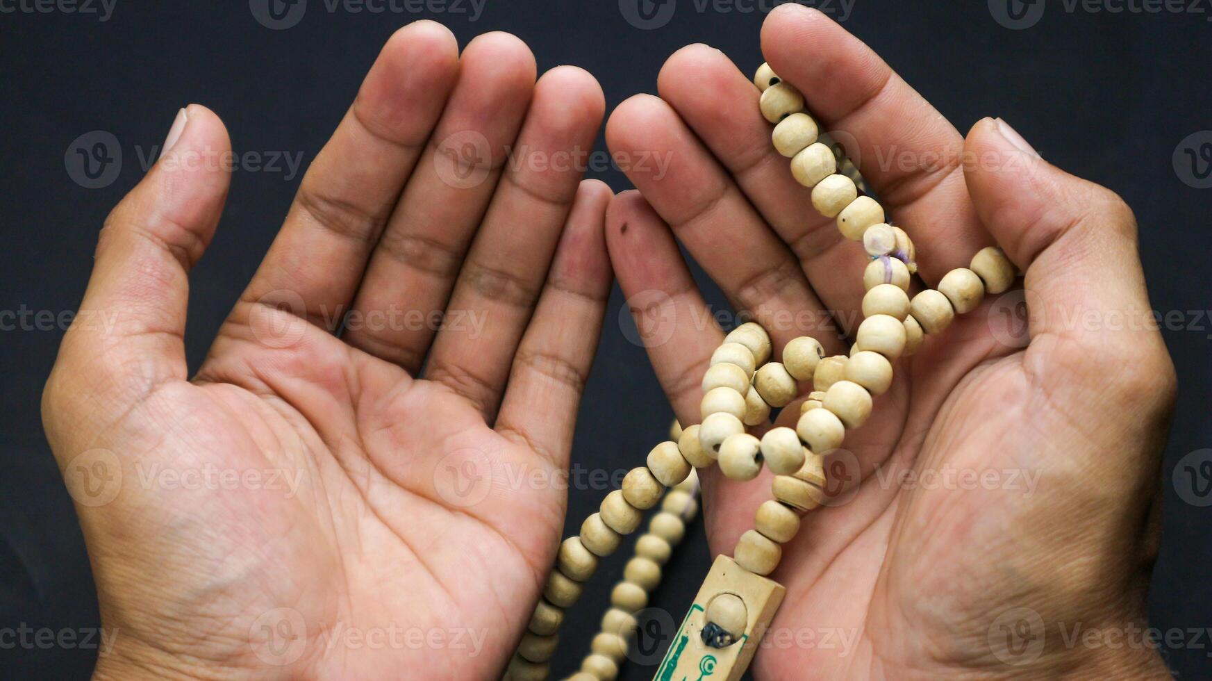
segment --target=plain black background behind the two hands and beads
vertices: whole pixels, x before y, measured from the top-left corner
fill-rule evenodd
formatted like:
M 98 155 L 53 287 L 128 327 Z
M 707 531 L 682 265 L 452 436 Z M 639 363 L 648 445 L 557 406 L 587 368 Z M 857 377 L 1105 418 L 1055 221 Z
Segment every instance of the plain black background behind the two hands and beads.
M 324 0 L 310 0 L 303 19 L 286 30 L 258 23 L 245 0 L 118 0 L 105 22 L 63 11 L 0 13 L 0 310 L 57 314 L 78 305 L 102 219 L 138 182 L 138 153 L 161 143 L 187 103 L 215 109 L 238 153 L 302 153 L 308 164 L 383 41 L 424 17 L 448 25 L 461 44 L 488 30 L 515 33 L 530 44 L 541 70 L 589 69 L 611 108 L 633 93 L 654 92 L 662 62 L 688 42 L 724 50 L 747 73 L 761 63 L 758 33 L 770 0 L 705 10 L 702 0 L 676 2 L 668 24 L 650 30 L 629 24 L 616 0 L 487 0 L 478 21 L 470 21 L 465 2 L 464 12 L 356 13 L 328 12 Z M 844 18 L 962 131 L 981 116 L 1000 115 L 1045 158 L 1115 189 L 1136 210 L 1153 305 L 1182 313 L 1165 331 L 1180 393 L 1159 482 L 1165 528 L 1151 624 L 1212 626 L 1212 509 L 1184 502 L 1184 496 L 1201 499 L 1190 490 L 1180 496 L 1173 485 L 1178 459 L 1212 446 L 1206 414 L 1212 321 L 1190 313 L 1212 307 L 1206 212 L 1212 190 L 1190 187 L 1172 165 L 1188 136 L 1212 128 L 1212 4 L 1187 2 L 1194 11 L 1183 13 L 1111 13 L 1070 11 L 1048 0 L 1042 19 L 1023 30 L 1000 25 L 983 0 L 857 0 L 845 17 L 837 0 L 816 4 Z M 64 154 L 95 130 L 119 139 L 125 161 L 113 184 L 85 189 L 69 177 Z M 1200 139 L 1210 141 L 1212 133 Z M 616 171 L 589 174 L 617 190 L 628 187 Z M 191 276 L 187 342 L 194 366 L 269 246 L 297 184 L 298 177 L 282 172 L 235 172 L 218 235 Z M 582 468 L 630 468 L 670 418 L 644 351 L 624 337 L 630 322 L 619 321 L 621 304 L 616 292 L 581 413 L 572 459 Z M 0 628 L 98 625 L 84 544 L 40 427 L 38 395 L 61 336 L 57 328 L 11 324 L 0 331 Z M 573 494 L 572 532 L 601 493 Z M 565 628 L 558 674 L 570 673 L 584 654 L 628 553 L 605 563 Z M 656 601 L 678 612 L 707 565 L 697 526 Z M 1183 677 L 1212 677 L 1212 641 L 1187 639 L 1194 643 L 1164 651 L 1172 669 Z M 61 647 L 0 649 L 0 675 L 85 677 L 95 656 Z M 647 675 L 651 669 L 634 664 L 624 673 Z

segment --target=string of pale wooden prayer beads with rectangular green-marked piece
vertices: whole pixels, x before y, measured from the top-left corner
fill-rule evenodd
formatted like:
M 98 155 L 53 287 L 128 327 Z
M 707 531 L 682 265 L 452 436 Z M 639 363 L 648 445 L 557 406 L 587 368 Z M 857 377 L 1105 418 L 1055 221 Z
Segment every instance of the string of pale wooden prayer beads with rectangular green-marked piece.
M 591 654 L 570 679 L 618 675 L 636 626 L 634 614 L 647 606 L 647 595 L 661 579 L 659 565 L 697 509 L 694 469 L 716 462 L 732 480 L 753 480 L 762 464 L 770 467 L 773 498 L 758 508 L 754 528 L 741 536 L 732 556 L 715 559 L 654 679 L 739 679 L 785 593 L 766 576 L 778 567 L 782 545 L 795 537 L 801 515 L 824 498 L 824 454 L 841 447 L 846 430 L 867 422 L 873 396 L 892 384 L 894 361 L 916 353 L 925 336 L 945 331 L 955 315 L 976 309 L 985 293 L 1008 290 L 1017 276 L 1006 254 L 988 247 L 967 268 L 947 273 L 937 290 L 922 290 L 910 299 L 910 277 L 917 265 L 909 235 L 886 222 L 879 201 L 861 194 L 858 171 L 825 143 L 799 91 L 767 64 L 758 69 L 754 84 L 762 91 L 762 116 L 774 124 L 774 149 L 791 159 L 796 182 L 812 189 L 813 207 L 835 218 L 841 234 L 861 242 L 871 261 L 863 271 L 864 319 L 854 344 L 848 355 L 827 357 L 817 339 L 802 336 L 787 343 L 783 361 L 776 362 L 765 328 L 745 322 L 732 330 L 703 376 L 701 423 L 653 447 L 647 465 L 631 469 L 622 488 L 607 494 L 600 510 L 585 519 L 581 534 L 560 544 L 543 597 L 505 671 L 510 681 L 548 677 L 564 612 L 581 596 L 599 559 L 614 553 L 622 537 L 639 528 L 644 511 L 661 502 L 665 488 L 674 488 L 648 533 L 636 543 L 636 557 L 624 568 L 623 582 L 611 593 L 612 607 L 593 640 Z M 761 439 L 747 433 L 765 424 L 772 408 L 791 404 L 799 383 L 810 380 L 813 390 L 794 429 L 772 428 Z

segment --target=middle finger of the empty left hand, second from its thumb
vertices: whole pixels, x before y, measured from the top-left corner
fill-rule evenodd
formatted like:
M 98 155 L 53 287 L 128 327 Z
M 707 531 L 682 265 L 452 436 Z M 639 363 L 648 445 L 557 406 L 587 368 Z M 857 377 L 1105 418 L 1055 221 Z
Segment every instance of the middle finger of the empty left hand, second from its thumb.
M 458 85 L 371 257 L 347 343 L 413 376 L 421 370 L 533 92 L 534 56 L 516 36 L 468 44 Z

